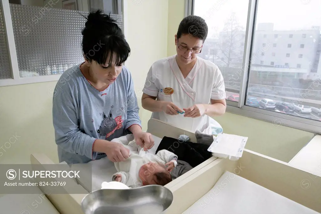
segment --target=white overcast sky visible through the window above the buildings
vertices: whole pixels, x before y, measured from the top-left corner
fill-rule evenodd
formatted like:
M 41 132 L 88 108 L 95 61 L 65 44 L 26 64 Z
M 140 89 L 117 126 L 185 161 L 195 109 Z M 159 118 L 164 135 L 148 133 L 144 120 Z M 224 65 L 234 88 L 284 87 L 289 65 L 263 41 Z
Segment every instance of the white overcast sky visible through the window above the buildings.
M 247 10 L 248 0 L 195 0 L 194 14 L 206 20 L 209 35 L 213 35 L 215 28 L 222 31 L 231 12 L 245 29 Z M 262 22 L 274 23 L 274 30 L 321 27 L 321 0 L 259 0 L 256 23 Z

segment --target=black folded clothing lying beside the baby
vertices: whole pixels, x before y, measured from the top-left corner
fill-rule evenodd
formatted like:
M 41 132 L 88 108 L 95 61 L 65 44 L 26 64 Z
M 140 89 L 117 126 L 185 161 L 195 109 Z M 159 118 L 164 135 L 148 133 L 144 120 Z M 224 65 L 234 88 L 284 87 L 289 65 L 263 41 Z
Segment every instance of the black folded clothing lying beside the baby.
M 192 167 L 195 167 L 212 157 L 212 153 L 207 151 L 208 147 L 209 146 L 204 144 L 190 141 L 182 142 L 178 139 L 165 136 L 160 141 L 156 154 L 158 151 L 166 149 L 177 155 L 179 160 L 185 161 Z

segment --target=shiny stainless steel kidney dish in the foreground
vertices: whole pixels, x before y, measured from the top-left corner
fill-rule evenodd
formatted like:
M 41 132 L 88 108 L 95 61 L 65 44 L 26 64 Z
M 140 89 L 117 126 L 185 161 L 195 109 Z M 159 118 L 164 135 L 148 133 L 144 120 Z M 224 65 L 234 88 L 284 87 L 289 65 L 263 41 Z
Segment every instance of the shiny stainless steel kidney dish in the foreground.
M 160 185 L 101 189 L 82 199 L 82 210 L 85 214 L 160 214 L 172 202 L 172 192 Z

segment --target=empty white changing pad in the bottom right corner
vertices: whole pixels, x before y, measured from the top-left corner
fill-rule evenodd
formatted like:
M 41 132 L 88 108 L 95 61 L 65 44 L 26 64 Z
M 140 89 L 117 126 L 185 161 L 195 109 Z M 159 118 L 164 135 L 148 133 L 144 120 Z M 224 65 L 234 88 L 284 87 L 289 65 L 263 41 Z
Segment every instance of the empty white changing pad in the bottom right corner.
M 236 174 L 225 172 L 182 214 L 319 214 Z

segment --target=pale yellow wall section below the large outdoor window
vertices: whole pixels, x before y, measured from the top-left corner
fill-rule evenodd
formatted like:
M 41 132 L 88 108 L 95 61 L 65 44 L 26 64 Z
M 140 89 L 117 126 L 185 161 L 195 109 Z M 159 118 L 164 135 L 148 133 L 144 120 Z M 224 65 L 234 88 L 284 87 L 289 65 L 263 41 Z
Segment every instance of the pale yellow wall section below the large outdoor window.
M 313 137 L 312 133 L 226 112 L 214 117 L 224 133 L 248 137 L 245 148 L 289 162 Z

